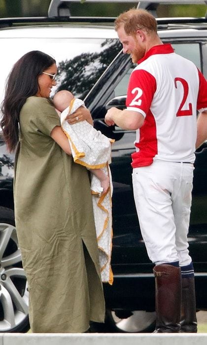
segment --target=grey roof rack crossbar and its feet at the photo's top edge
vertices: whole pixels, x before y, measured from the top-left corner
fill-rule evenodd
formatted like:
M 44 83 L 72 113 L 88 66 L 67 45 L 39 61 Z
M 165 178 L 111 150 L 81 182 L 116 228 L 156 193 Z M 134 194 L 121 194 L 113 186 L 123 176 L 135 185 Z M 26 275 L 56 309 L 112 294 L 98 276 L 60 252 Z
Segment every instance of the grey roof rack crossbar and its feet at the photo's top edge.
M 119 2 L 119 3 L 127 3 L 127 2 L 135 2 L 137 4 L 137 8 L 143 8 L 150 11 L 155 17 L 156 10 L 159 4 L 207 4 L 207 0 L 51 0 L 49 8 L 48 8 L 48 17 L 49 18 L 59 18 L 59 17 L 70 17 L 70 9 L 69 5 L 72 2 L 79 2 L 79 3 L 110 3 L 110 2 Z

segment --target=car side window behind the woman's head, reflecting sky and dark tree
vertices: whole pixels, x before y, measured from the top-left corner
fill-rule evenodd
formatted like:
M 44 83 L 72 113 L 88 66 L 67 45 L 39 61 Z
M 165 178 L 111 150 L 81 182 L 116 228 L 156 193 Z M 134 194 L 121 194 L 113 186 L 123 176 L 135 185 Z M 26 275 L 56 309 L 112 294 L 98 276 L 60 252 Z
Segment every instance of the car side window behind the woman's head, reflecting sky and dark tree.
M 40 50 L 56 59 L 59 72 L 51 96 L 58 90 L 68 89 L 81 99 L 120 51 L 117 38 L 11 37 L 0 38 L 0 44 L 0 102 L 9 71 L 28 51 Z

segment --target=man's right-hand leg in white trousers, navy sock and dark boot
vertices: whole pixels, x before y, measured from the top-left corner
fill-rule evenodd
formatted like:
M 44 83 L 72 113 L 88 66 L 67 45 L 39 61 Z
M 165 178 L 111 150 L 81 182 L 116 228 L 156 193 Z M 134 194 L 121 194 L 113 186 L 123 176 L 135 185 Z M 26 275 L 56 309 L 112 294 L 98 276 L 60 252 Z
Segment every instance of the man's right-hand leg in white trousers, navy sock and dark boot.
M 197 333 L 194 269 L 188 251 L 193 166 L 183 164 L 179 193 L 172 196 L 176 225 L 175 243 L 182 276 L 181 331 Z

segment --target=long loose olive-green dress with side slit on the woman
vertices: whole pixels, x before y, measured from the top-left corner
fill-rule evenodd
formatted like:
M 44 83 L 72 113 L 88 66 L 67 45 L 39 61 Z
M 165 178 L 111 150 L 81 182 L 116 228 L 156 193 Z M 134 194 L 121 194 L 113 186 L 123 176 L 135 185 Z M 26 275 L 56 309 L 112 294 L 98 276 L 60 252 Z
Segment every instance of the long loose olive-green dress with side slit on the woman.
M 85 332 L 104 322 L 104 295 L 86 168 L 51 138 L 60 119 L 29 97 L 20 113 L 15 220 L 33 332 Z

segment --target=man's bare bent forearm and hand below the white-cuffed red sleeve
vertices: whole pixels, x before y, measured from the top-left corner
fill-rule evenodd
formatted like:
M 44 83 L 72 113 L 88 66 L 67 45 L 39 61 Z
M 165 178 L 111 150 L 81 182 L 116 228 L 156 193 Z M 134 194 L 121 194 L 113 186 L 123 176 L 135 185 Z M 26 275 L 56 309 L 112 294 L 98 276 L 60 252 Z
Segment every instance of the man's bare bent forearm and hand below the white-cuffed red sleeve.
M 143 122 L 144 116 L 133 110 L 120 110 L 112 107 L 105 115 L 105 123 L 108 126 L 116 124 L 125 130 L 135 131 L 143 125 Z

